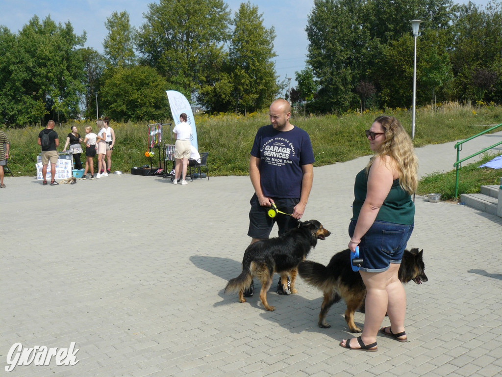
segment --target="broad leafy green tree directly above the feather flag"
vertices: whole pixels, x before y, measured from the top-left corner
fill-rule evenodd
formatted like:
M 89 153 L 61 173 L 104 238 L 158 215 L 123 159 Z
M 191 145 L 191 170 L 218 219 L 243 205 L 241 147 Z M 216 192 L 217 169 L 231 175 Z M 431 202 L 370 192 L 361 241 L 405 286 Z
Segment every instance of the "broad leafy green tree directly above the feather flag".
M 160 0 L 149 4 L 138 33 L 145 61 L 163 75 L 170 89 L 190 98 L 218 59 L 228 36 L 229 12 L 223 0 Z

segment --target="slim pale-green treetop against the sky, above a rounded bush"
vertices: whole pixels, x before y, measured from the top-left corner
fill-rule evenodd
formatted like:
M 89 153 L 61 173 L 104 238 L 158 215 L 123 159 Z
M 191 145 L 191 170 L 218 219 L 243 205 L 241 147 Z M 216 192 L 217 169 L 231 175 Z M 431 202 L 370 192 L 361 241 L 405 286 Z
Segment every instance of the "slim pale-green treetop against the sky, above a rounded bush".
M 126 11 L 113 12 L 104 23 L 108 30 L 104 38 L 103 51 L 109 60 L 108 66 L 131 66 L 136 61 L 134 52 L 134 38 L 136 30 L 131 27 L 129 13 Z

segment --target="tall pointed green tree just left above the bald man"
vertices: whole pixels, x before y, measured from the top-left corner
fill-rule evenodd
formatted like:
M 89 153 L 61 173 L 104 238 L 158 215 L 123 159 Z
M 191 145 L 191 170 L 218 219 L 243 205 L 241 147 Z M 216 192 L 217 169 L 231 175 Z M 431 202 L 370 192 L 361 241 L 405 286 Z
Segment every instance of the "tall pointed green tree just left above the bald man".
M 263 25 L 258 7 L 242 3 L 231 21 L 228 51 L 211 61 L 197 99 L 211 112 L 246 114 L 267 107 L 279 92 L 274 28 Z

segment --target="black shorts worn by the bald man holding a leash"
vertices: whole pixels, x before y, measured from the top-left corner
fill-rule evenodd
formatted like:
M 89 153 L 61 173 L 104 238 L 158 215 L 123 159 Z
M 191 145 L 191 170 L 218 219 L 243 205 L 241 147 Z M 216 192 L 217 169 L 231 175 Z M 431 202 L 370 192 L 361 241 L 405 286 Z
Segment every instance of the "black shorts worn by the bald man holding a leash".
M 294 198 L 272 198 L 279 211 L 287 214 L 292 214 L 293 209 L 298 204 L 300 199 Z M 277 223 L 279 227 L 279 235 L 283 235 L 288 230 L 298 226 L 298 220 L 292 216 L 278 213 L 276 217 L 271 218 L 268 215 L 272 207 L 262 207 L 258 197 L 253 195 L 249 201 L 251 209 L 249 210 L 249 230 L 247 235 L 252 238 L 265 239 L 269 238 L 274 224 Z

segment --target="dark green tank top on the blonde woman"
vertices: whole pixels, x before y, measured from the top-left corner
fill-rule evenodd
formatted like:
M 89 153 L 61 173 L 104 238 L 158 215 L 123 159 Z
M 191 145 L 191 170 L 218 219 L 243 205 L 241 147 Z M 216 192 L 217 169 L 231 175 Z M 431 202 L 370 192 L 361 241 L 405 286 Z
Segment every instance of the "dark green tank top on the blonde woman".
M 354 203 L 352 204 L 352 220 L 354 221 L 357 221 L 362 204 L 366 199 L 368 177 L 365 170 L 362 169 L 355 176 Z M 411 200 L 411 196 L 399 185 L 399 179 L 395 179 L 375 220 L 411 225 L 415 221 L 414 218 L 415 204 Z

